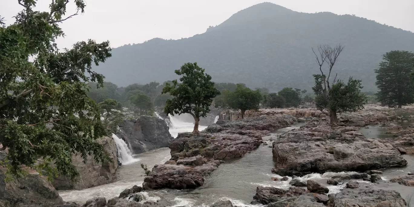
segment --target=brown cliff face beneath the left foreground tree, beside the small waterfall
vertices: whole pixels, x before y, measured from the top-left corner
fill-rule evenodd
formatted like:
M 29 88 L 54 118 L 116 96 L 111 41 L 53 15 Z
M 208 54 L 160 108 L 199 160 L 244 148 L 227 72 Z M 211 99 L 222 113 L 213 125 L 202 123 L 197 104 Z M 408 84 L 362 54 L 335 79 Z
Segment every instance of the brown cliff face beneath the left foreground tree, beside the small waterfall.
M 117 164 L 117 148 L 112 137 L 103 137 L 97 140 L 103 145 L 103 148 L 108 152 L 113 162 L 96 163 L 93 156 L 88 156 L 86 163 L 80 155 L 73 156 L 73 164 L 80 173 L 78 181 L 73 183 L 70 178 L 66 176 L 58 176 L 53 181 L 53 186 L 58 190 L 82 190 L 84 188 L 91 188 L 98 185 L 112 183 L 116 180 Z

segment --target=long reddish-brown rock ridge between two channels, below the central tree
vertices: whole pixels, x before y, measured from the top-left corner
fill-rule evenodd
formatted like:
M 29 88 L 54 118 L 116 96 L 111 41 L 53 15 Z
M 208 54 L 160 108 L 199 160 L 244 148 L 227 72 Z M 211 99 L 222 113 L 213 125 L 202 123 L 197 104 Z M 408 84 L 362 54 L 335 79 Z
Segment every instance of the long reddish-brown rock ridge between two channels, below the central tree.
M 290 115 L 256 117 L 210 125 L 199 135 L 181 133 L 169 144 L 171 159 L 156 165 L 144 178 L 144 189 L 188 189 L 204 184 L 204 177 L 225 159 L 242 157 L 262 143 L 269 130 L 297 122 Z

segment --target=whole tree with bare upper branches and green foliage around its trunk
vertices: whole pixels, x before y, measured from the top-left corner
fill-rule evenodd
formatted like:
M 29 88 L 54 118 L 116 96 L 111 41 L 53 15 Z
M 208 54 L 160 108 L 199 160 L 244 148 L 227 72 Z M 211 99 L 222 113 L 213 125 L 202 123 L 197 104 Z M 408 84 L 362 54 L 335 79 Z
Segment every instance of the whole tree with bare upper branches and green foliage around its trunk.
M 367 97 L 361 92 L 361 80 L 349 77 L 348 83 L 345 84 L 337 79 L 337 74 L 335 74 L 332 84 L 330 82 L 331 75 L 333 75 L 332 69 L 343 49 L 344 47 L 339 44 L 334 48 L 330 45 L 321 45 L 318 46 L 317 54 L 312 48 L 321 73 L 313 75 L 315 87 L 312 89 L 316 95 L 315 103 L 318 108 L 325 108 L 329 111 L 329 123 L 333 126 L 338 124 L 338 112 L 357 111 L 367 103 Z M 328 69 L 326 75 L 323 72 L 324 63 L 327 64 Z

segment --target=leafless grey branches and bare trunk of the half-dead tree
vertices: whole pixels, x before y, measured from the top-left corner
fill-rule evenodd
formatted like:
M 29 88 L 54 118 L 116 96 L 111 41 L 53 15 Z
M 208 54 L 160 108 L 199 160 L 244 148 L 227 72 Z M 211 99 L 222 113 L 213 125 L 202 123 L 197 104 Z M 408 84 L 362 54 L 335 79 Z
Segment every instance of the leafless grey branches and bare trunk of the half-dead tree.
M 320 79 L 321 79 L 321 82 L 323 83 L 321 84 L 322 85 L 321 95 L 326 100 L 326 102 L 329 102 L 330 100 L 329 90 L 331 89 L 330 77 L 331 77 L 332 69 L 336 61 L 338 60 L 339 55 L 341 54 L 343 50 L 344 50 L 344 47 L 340 44 L 337 44 L 335 47 L 332 47 L 329 44 L 319 45 L 318 52 L 315 52 L 315 50 L 312 48 L 313 54 L 315 54 L 316 63 L 319 65 L 319 70 L 321 73 Z M 324 63 L 327 64 L 327 67 L 329 69 L 327 72 L 327 75 L 325 75 L 325 73 L 323 72 L 322 67 Z M 332 81 L 332 84 L 335 84 L 335 82 L 337 82 L 337 75 L 338 74 L 336 73 L 335 78 Z M 328 109 L 328 111 L 330 113 L 329 123 L 332 125 L 337 125 L 338 123 L 338 119 L 336 115 L 337 111 L 333 111 L 332 109 Z

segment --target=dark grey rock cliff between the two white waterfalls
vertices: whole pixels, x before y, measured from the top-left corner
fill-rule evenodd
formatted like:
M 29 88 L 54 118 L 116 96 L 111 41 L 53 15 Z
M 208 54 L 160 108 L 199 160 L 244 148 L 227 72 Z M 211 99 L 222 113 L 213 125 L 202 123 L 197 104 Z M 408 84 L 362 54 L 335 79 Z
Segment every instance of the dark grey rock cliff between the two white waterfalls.
M 157 117 L 141 116 L 138 119 L 124 120 L 119 124 L 117 136 L 128 143 L 132 153 L 168 147 L 172 140 L 167 123 Z

